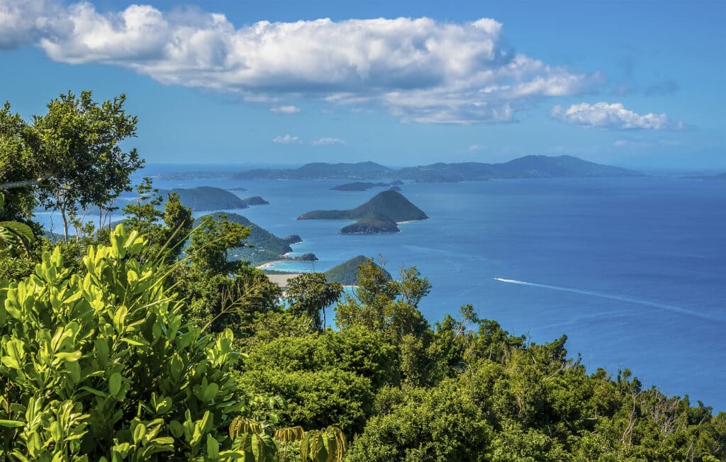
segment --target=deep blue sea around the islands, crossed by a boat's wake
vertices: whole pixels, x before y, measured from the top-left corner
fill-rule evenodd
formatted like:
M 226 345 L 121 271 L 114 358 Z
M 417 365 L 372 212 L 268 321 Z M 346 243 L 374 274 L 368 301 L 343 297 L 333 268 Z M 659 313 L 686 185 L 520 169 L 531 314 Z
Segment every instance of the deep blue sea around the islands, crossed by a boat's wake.
M 174 169 L 172 169 L 174 170 Z M 179 168 L 176 168 L 178 171 Z M 406 183 L 431 219 L 401 233 L 340 235 L 348 222 L 296 220 L 347 209 L 383 189 L 330 191 L 346 181 L 155 181 L 160 188 L 219 186 L 270 205 L 232 210 L 325 271 L 356 255 L 395 273 L 415 265 L 433 288 L 421 310 L 434 322 L 460 305 L 513 334 L 550 342 L 590 371 L 631 369 L 645 385 L 726 411 L 726 182 L 682 178 L 568 178 Z M 57 228 L 57 224 L 56 224 Z

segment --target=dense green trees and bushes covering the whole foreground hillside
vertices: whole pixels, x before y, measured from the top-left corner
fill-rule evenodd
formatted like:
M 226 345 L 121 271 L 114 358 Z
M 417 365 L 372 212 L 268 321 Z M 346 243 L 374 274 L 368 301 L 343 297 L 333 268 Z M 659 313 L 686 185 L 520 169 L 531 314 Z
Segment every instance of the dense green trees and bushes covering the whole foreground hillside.
M 67 104 L 72 118 L 74 100 L 49 112 Z M 123 98 L 80 106 L 118 115 Z M 94 144 L 107 125 L 75 126 L 89 132 L 44 128 L 38 144 L 0 112 L 0 460 L 726 461 L 726 413 L 627 369 L 589 373 L 566 336 L 535 344 L 470 306 L 432 326 L 416 268 L 391 279 L 364 260 L 342 298 L 303 274 L 283 304 L 232 258 L 250 228 L 207 215 L 192 229 L 179 196 L 161 210 L 150 181 L 122 226 L 76 223 L 49 242 L 30 220 L 57 186 L 37 181 L 54 171 L 46 146 L 75 140 L 69 164 L 76 149 L 116 152 Z M 60 197 L 67 212 L 129 185 L 136 164 L 119 155 L 126 179 Z

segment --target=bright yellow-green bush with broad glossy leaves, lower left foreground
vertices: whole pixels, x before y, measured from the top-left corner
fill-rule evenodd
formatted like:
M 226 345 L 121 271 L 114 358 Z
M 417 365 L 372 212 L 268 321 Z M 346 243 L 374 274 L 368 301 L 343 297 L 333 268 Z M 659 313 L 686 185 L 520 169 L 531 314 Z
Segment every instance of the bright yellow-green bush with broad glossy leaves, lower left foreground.
M 83 273 L 60 249 L 0 281 L 0 459 L 216 460 L 240 409 L 232 332 L 203 337 L 119 226 Z

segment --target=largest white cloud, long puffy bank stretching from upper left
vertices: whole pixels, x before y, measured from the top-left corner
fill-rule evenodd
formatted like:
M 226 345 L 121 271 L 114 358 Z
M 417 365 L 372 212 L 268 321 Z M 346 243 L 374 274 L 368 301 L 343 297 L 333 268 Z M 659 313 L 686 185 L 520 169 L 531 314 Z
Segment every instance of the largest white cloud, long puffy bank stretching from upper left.
M 165 84 L 235 92 L 245 101 L 312 98 L 383 107 L 406 122 L 506 123 L 533 99 L 581 94 L 601 79 L 515 51 L 502 24 L 487 18 L 236 27 L 221 14 L 168 13 L 143 4 L 98 12 L 85 1 L 47 10 L 20 1 L 26 7 L 4 6 L 0 11 L 12 12 L 0 17 L 12 15 L 13 23 L 33 30 L 30 36 L 52 59 L 119 65 Z M 9 39 L 6 46 L 13 44 Z

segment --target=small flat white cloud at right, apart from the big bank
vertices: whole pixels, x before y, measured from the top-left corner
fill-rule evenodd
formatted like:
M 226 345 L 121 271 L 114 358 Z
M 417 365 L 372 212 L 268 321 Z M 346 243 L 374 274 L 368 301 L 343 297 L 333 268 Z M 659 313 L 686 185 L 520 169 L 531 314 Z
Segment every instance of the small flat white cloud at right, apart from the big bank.
M 665 114 L 640 115 L 625 109 L 622 103 L 572 104 L 565 109 L 559 104 L 552 107 L 552 117 L 584 127 L 613 128 L 616 130 L 685 130 L 682 122 L 671 122 Z

